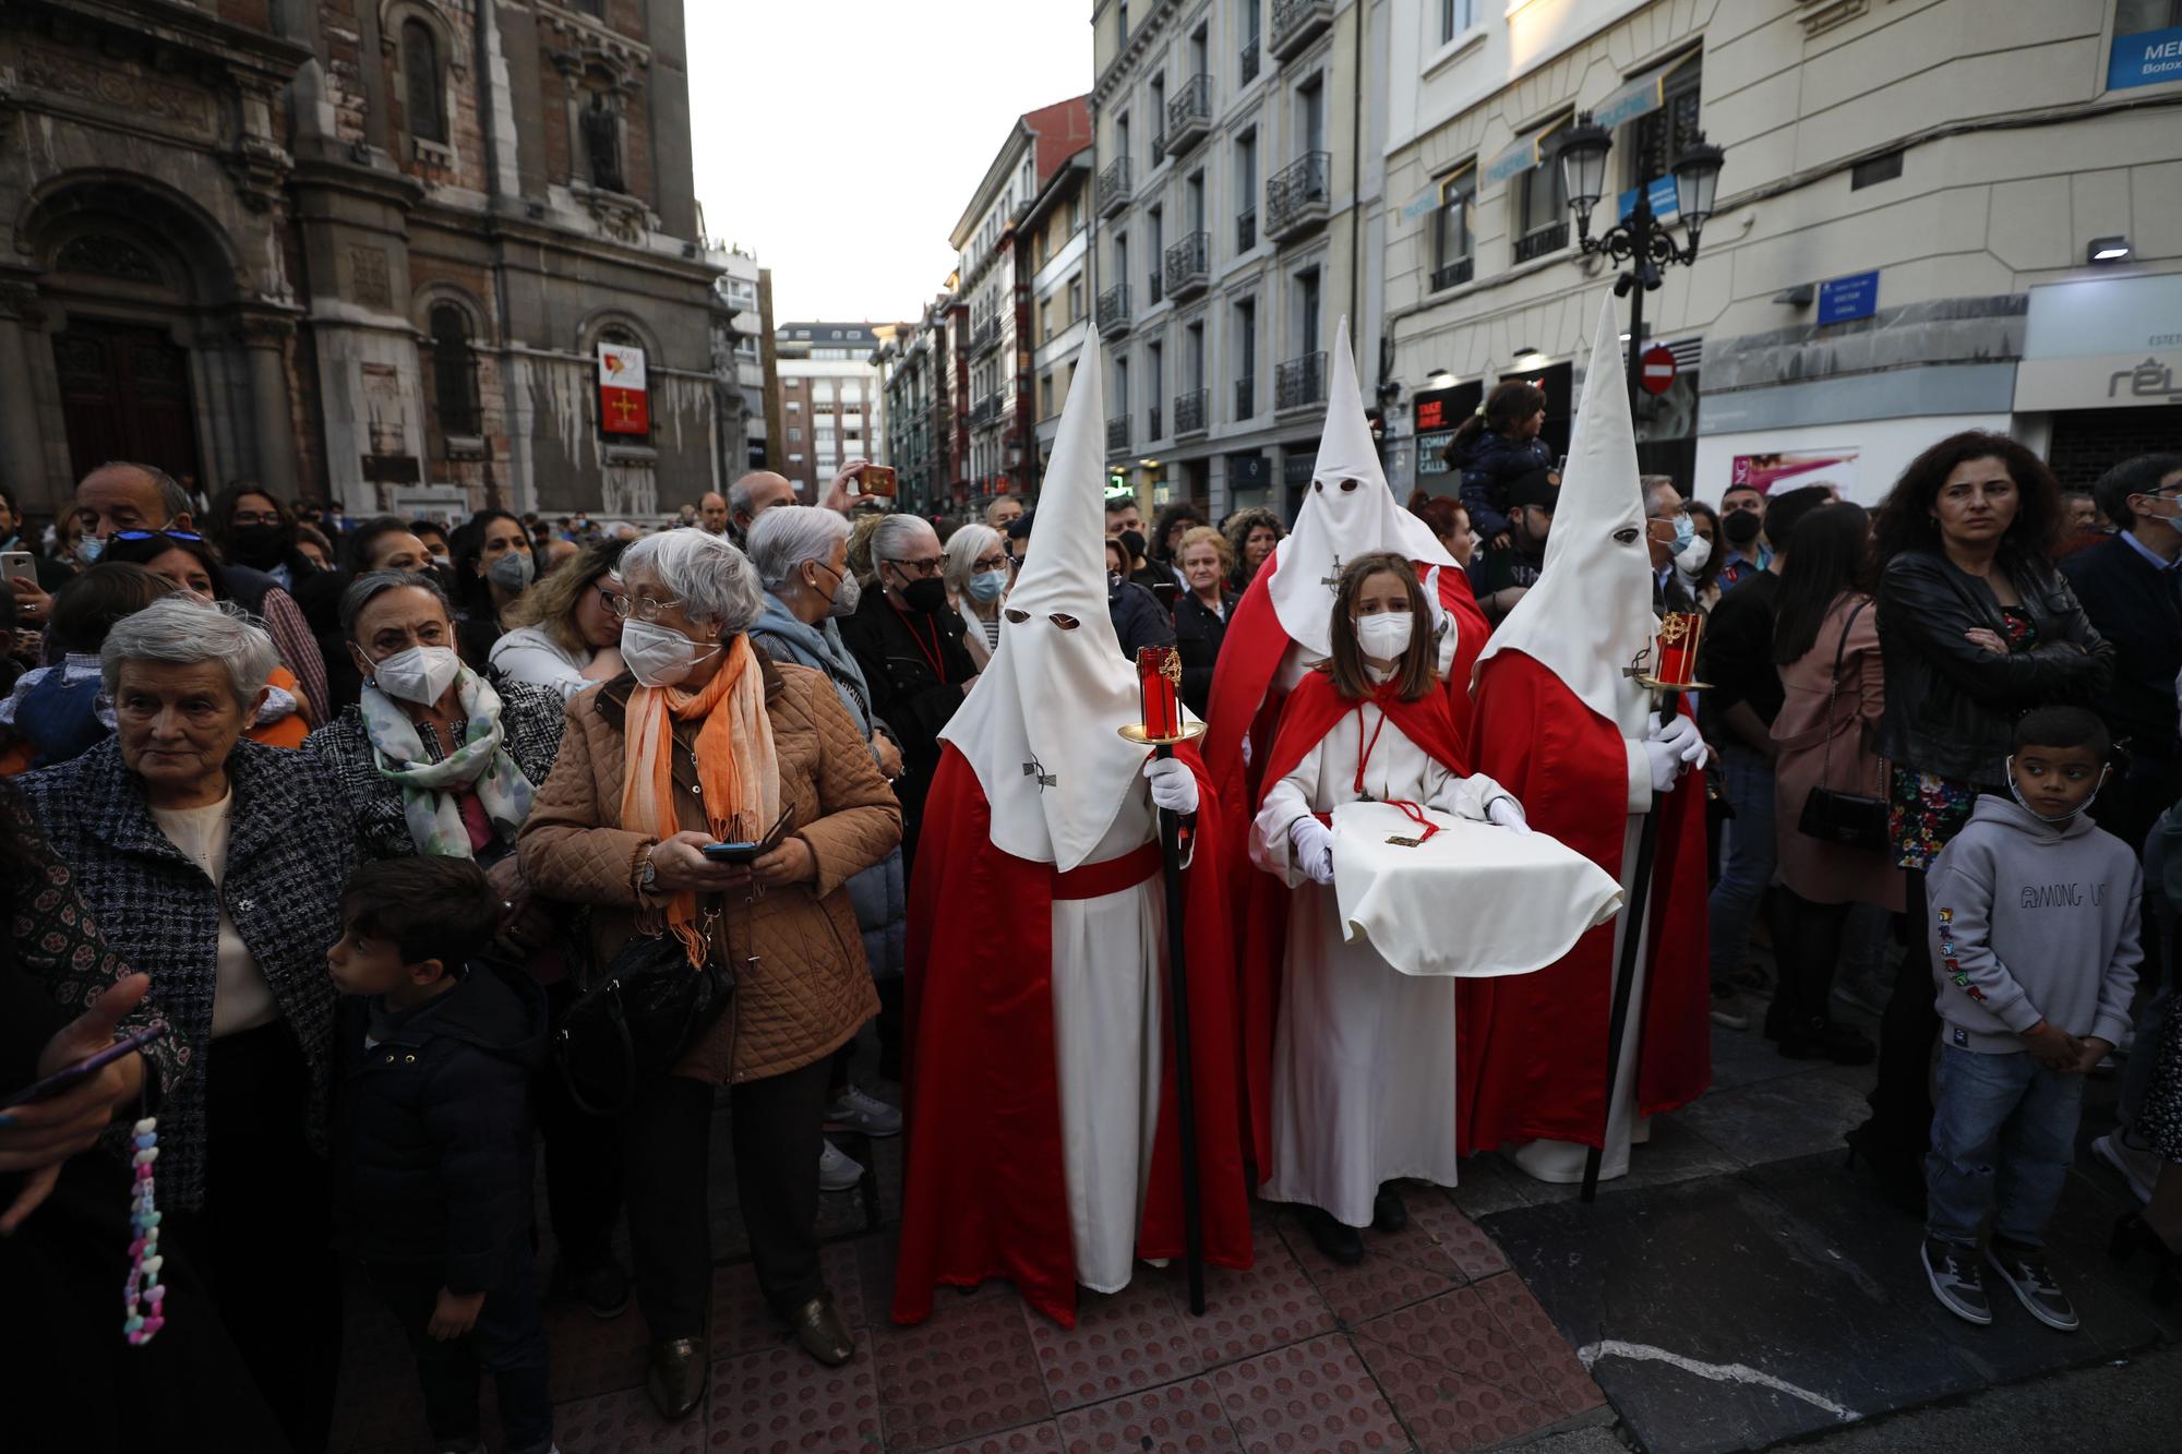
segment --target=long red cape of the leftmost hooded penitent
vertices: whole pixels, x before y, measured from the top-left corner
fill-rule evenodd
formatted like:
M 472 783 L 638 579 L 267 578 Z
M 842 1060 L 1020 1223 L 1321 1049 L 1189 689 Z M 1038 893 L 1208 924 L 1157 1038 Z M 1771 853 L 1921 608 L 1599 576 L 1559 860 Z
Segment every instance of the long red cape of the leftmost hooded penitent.
M 1250 1266 L 1250 1205 L 1235 1085 L 1235 978 L 1222 891 L 1220 799 L 1196 749 L 1198 841 L 1183 873 L 1189 1044 L 1196 1078 L 1204 1260 Z M 1076 1253 L 1054 1065 L 1052 865 L 993 847 L 993 808 L 951 744 L 940 751 L 908 926 L 908 1166 L 895 1266 L 897 1323 L 932 1312 L 934 1284 L 1006 1277 L 1063 1327 L 1076 1325 Z M 1167 985 L 1165 965 L 1159 974 Z M 1163 1046 L 1152 1185 L 1139 1258 L 1183 1255 L 1174 1041 Z

